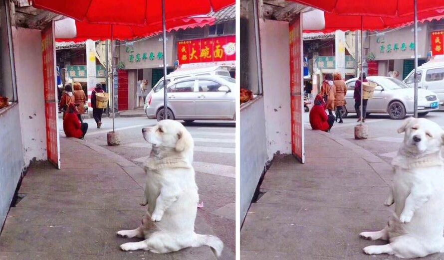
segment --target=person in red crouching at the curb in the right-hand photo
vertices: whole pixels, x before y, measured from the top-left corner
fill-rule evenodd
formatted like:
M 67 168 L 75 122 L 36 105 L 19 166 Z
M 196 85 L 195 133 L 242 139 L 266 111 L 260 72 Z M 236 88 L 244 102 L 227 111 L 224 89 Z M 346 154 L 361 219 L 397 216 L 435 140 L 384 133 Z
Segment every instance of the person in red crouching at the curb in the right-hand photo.
M 321 95 L 316 95 L 314 99 L 314 106 L 310 110 L 310 126 L 313 130 L 322 130 L 329 132 L 333 123 L 335 122 L 335 117 L 333 115 L 327 116 L 325 113 L 326 104 Z

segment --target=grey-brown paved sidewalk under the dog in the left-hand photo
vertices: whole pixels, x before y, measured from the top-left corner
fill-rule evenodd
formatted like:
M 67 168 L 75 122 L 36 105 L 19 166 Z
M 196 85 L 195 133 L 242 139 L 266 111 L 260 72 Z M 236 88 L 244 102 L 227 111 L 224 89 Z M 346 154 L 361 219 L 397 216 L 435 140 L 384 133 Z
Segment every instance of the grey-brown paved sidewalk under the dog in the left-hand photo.
M 122 252 L 119 246 L 139 239 L 118 238 L 122 229 L 140 224 L 145 207 L 145 173 L 106 148 L 60 136 L 61 165 L 30 167 L 0 236 L 0 260 L 15 259 L 215 259 L 209 247 L 157 255 Z M 196 232 L 214 234 L 200 216 Z M 222 259 L 230 259 L 222 252 Z

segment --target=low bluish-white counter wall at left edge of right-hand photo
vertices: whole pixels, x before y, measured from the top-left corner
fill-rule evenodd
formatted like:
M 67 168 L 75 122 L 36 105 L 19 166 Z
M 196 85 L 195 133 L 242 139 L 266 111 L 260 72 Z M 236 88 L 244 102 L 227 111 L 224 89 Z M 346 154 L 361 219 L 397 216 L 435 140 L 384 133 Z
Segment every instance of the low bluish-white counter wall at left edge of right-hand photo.
M 260 175 L 268 160 L 264 98 L 259 97 L 240 111 L 240 219 L 250 206 Z

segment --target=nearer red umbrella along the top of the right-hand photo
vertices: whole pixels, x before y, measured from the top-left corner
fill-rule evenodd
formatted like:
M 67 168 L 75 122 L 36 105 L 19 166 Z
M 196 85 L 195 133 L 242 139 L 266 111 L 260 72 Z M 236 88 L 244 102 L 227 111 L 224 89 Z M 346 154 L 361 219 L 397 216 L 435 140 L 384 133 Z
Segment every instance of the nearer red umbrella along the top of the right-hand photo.
M 335 14 L 402 17 L 414 13 L 413 0 L 290 0 Z M 418 12 L 443 9 L 443 0 L 418 0 Z

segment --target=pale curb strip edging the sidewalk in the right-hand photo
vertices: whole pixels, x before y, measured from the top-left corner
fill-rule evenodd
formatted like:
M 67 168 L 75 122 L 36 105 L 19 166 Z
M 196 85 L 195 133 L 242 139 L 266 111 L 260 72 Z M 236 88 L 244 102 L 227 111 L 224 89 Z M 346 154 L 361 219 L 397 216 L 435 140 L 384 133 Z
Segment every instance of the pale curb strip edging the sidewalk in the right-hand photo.
M 361 156 L 372 169 L 384 180 L 385 183 L 390 185 L 393 179 L 393 167 L 390 163 L 385 160 L 379 158 L 377 155 L 372 152 L 362 148 L 361 146 L 354 144 L 353 142 L 339 137 L 334 133 L 328 133 L 324 131 L 317 131 L 319 134 L 324 135 L 325 137 L 341 144 L 342 146 L 353 150 L 356 154 Z

